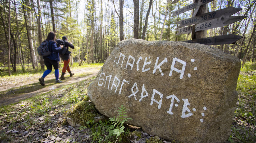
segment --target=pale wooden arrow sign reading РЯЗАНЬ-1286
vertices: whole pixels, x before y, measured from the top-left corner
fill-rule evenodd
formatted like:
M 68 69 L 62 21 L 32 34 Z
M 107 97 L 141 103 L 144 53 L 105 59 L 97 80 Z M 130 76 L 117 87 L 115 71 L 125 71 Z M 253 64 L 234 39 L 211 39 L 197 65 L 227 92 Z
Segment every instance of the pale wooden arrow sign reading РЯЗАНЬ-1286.
M 203 23 L 196 24 L 195 32 L 200 30 L 223 27 L 231 23 L 234 23 L 236 21 L 242 20 L 244 18 L 246 18 L 246 16 L 221 16 L 220 18 L 216 18 L 209 21 L 205 21 Z M 193 26 L 179 28 L 177 29 L 179 33 L 177 33 L 176 35 L 191 33 L 192 29 L 193 29 Z

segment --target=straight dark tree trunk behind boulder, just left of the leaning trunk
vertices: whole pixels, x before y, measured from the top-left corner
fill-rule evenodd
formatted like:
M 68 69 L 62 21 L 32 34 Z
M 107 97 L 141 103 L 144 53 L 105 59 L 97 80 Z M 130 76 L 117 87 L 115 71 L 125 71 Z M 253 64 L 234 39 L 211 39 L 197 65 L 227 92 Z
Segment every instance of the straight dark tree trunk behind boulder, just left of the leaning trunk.
M 139 39 L 139 0 L 133 0 L 134 3 L 134 25 L 133 25 L 133 38 Z

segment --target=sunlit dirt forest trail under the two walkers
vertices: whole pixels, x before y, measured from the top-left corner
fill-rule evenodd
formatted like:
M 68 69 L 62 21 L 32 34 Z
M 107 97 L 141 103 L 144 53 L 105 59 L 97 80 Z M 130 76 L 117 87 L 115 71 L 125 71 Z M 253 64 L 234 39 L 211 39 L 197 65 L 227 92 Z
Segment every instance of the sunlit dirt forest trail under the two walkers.
M 29 74 L 26 76 L 12 76 L 0 78 L 0 106 L 17 103 L 21 100 L 33 97 L 37 94 L 49 92 L 53 89 L 60 88 L 63 85 L 76 83 L 96 76 L 101 67 L 93 68 L 76 68 L 72 69 L 73 75 L 69 76 L 66 72 L 62 83 L 55 84 L 54 71 L 45 77 L 45 86 L 39 84 L 38 79 L 42 74 Z M 60 75 L 59 75 L 60 77 Z

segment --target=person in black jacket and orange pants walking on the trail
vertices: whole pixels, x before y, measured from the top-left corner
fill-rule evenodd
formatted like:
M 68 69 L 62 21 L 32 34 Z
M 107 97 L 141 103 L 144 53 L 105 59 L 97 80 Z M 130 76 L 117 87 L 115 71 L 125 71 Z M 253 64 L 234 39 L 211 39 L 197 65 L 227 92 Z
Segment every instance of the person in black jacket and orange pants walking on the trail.
M 65 79 L 64 78 L 64 74 L 66 73 L 66 70 L 68 71 L 68 73 L 70 74 L 70 76 L 73 76 L 74 73 L 71 73 L 71 70 L 69 68 L 69 65 L 68 63 L 70 62 L 70 54 L 71 52 L 68 51 L 68 47 L 74 49 L 74 45 L 72 45 L 71 42 L 67 42 L 68 39 L 66 36 L 63 36 L 62 37 L 62 40 L 64 41 L 64 47 L 62 48 L 62 50 L 60 51 L 60 55 L 61 55 L 61 59 L 63 60 L 64 62 L 64 65 L 63 65 L 63 69 L 62 69 L 62 73 L 61 73 L 61 77 L 60 79 Z

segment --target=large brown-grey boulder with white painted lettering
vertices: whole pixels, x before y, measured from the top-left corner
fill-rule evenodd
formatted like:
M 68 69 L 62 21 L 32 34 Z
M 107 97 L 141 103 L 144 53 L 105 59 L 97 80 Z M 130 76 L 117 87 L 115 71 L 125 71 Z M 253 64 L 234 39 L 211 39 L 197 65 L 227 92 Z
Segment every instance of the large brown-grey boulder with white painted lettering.
M 217 143 L 230 136 L 237 101 L 238 58 L 203 44 L 123 40 L 88 87 L 108 117 L 124 105 L 148 134 Z

